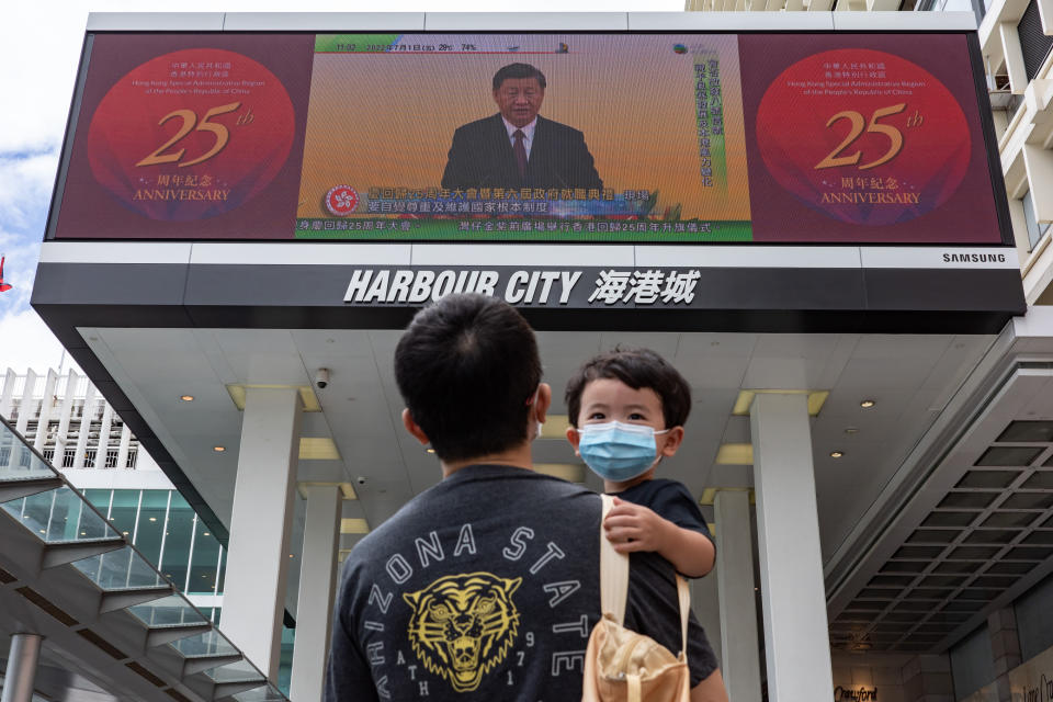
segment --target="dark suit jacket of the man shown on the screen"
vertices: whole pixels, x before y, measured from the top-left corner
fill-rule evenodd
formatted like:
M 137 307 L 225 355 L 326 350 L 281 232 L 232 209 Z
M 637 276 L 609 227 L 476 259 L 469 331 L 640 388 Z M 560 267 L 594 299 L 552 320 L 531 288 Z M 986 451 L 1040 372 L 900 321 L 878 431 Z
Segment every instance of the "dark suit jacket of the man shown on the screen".
M 453 145 L 442 186 L 467 188 L 595 188 L 603 189 L 585 135 L 574 127 L 537 116 L 534 140 L 521 178 L 500 113 L 469 122 L 453 133 Z

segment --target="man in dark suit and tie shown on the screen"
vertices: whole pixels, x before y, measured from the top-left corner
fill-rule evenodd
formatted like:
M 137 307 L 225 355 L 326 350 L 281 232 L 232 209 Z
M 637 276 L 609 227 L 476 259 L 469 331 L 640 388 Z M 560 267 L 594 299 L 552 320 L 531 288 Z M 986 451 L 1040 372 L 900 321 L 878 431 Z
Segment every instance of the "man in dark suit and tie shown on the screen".
M 530 64 L 509 64 L 494 75 L 498 114 L 453 133 L 442 186 L 603 190 L 578 129 L 537 114 L 545 75 Z

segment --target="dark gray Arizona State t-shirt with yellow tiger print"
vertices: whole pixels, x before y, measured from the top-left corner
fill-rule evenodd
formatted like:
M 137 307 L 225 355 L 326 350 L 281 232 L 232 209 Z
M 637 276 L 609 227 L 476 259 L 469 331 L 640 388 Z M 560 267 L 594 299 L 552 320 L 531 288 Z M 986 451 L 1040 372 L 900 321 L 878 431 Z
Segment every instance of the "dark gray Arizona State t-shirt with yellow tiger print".
M 580 700 L 599 540 L 600 499 L 581 486 L 457 471 L 348 556 L 326 702 Z M 673 571 L 657 554 L 632 556 L 625 624 L 680 649 Z

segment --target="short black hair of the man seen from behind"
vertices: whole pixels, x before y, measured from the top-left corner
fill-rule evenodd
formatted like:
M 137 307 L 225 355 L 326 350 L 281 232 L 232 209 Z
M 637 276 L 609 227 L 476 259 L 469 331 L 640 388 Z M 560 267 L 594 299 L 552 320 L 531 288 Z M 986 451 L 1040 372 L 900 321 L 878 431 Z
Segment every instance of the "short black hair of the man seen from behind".
M 526 440 L 537 341 L 511 305 L 449 295 L 417 313 L 399 339 L 395 381 L 441 460 L 499 453 Z

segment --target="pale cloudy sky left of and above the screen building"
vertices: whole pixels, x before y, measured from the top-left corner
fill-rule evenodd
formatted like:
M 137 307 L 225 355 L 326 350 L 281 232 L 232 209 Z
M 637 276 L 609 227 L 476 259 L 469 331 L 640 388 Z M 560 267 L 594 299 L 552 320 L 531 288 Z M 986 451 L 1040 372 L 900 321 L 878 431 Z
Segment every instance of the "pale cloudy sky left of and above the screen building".
M 35 0 L 0 10 L 0 373 L 13 367 L 58 367 L 63 347 L 30 307 L 33 276 L 55 183 L 73 78 L 89 12 L 144 12 L 156 3 Z M 376 3 L 326 0 L 184 0 L 184 12 L 367 12 Z M 383 5 L 403 12 L 680 11 L 682 0 L 532 0 L 529 5 L 484 0 L 397 0 Z M 70 360 L 65 359 L 68 366 Z

